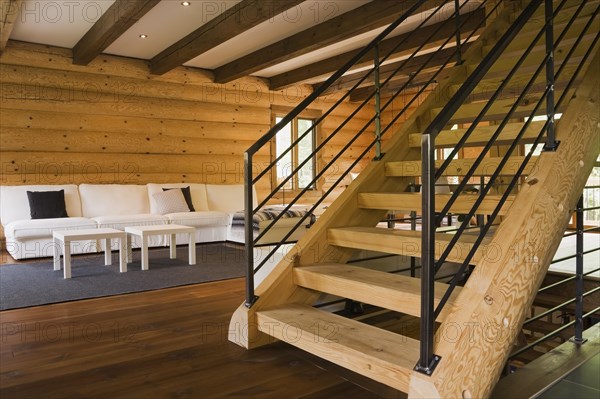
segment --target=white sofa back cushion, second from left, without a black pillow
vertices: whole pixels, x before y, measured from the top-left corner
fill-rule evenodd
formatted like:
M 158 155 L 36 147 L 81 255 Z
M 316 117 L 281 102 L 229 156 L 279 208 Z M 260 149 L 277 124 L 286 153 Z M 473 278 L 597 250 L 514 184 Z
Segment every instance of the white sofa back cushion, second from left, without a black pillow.
M 80 184 L 84 217 L 150 213 L 148 189 L 135 184 Z

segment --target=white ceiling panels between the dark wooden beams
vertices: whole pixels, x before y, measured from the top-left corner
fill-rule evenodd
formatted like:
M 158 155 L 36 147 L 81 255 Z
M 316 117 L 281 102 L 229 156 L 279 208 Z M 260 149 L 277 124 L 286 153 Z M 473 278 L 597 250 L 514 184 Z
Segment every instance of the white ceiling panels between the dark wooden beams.
M 181 0 L 162 0 L 114 41 L 104 53 L 149 60 L 240 1 L 191 0 L 191 5 L 184 7 L 181 5 Z M 285 37 L 360 7 L 369 1 L 371 0 L 305 1 L 186 62 L 184 65 L 215 69 Z M 113 2 L 114 0 L 23 0 L 21 15 L 15 23 L 10 38 L 72 48 Z M 479 2 L 475 1 L 473 3 L 475 3 L 474 7 Z M 454 2 L 451 1 L 447 6 L 453 8 Z M 467 8 L 470 7 L 465 7 L 465 11 Z M 441 15 L 447 16 L 449 13 L 441 13 Z M 422 18 L 423 15 L 411 18 L 411 20 L 396 29 L 393 35 L 413 29 Z M 429 23 L 439 22 L 439 20 L 440 18 L 432 18 Z M 383 28 L 357 35 L 335 45 L 323 47 L 317 51 L 258 71 L 253 75 L 266 78 L 272 77 L 360 48 L 372 40 L 381 30 Z M 140 38 L 141 34 L 148 37 L 142 39 Z

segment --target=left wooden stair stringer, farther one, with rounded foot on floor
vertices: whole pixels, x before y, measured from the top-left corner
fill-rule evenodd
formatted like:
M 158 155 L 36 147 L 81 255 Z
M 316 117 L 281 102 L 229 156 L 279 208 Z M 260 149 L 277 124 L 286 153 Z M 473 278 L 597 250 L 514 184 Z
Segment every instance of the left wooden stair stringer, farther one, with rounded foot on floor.
M 519 2 L 501 2 L 496 12 L 490 16 L 489 23 L 478 38 L 485 43 L 495 41 L 514 19 Z M 482 42 L 482 43 L 483 43 Z M 470 46 L 463 55 L 464 59 L 481 60 L 482 44 Z M 437 79 L 437 86 L 423 99 L 419 107 L 386 141 L 386 155 L 383 160 L 372 161 L 361 174 L 327 208 L 316 223 L 304 234 L 297 244 L 286 254 L 256 287 L 258 299 L 248 308 L 241 304 L 234 312 L 230 322 L 229 339 L 245 348 L 254 348 L 270 342 L 269 337 L 256 327 L 256 315 L 262 309 L 269 309 L 286 303 L 312 304 L 316 293 L 298 287 L 293 282 L 292 268 L 295 266 L 319 263 L 345 263 L 353 251 L 335 247 L 327 242 L 327 231 L 332 227 L 349 225 L 375 226 L 385 215 L 383 210 L 360 209 L 356 206 L 358 193 L 363 191 L 395 191 L 400 186 L 408 186 L 410 178 L 387 178 L 385 161 L 409 161 L 420 157 L 418 149 L 406 145 L 408 133 L 420 130 L 421 124 L 428 123 L 430 110 L 442 106 L 449 99 L 449 88 L 464 80 L 466 67 L 462 66 L 444 71 Z M 236 334 L 236 329 L 244 329 L 244 334 Z

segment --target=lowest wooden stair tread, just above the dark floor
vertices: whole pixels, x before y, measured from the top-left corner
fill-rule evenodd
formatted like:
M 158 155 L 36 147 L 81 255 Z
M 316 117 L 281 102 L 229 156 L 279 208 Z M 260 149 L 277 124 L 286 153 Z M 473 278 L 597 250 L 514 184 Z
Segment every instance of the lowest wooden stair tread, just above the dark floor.
M 261 310 L 256 317 L 263 333 L 408 392 L 417 340 L 306 305 Z

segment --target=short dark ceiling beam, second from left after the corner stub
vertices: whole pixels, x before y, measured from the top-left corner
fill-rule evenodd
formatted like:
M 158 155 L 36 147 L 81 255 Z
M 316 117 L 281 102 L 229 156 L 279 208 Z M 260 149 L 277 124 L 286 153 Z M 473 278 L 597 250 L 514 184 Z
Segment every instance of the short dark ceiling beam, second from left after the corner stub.
M 116 0 L 73 47 L 73 63 L 87 65 L 160 0 Z

